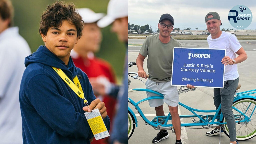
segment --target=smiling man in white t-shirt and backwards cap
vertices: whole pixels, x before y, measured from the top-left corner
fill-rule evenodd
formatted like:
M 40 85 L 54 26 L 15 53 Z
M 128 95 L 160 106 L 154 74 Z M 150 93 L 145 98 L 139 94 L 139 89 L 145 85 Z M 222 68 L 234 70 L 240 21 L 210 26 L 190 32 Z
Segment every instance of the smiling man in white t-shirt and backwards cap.
M 227 125 L 229 127 L 230 144 L 237 144 L 236 121 L 232 111 L 234 95 L 239 82 L 239 74 L 236 64 L 246 60 L 247 54 L 235 35 L 220 30 L 222 23 L 218 13 L 208 13 L 205 17 L 205 23 L 207 25 L 207 30 L 211 34 L 207 38 L 209 48 L 226 49 L 226 56 L 221 60 L 221 63 L 225 65 L 224 88 L 214 88 L 214 105 L 216 109 L 218 109 L 221 104 L 222 114 L 227 120 Z M 236 57 L 236 54 L 238 57 Z M 192 88 L 190 85 L 188 87 Z M 215 136 L 219 135 L 219 132 L 220 128 L 215 127 L 207 132 L 206 135 Z M 221 134 L 224 134 L 222 130 Z

